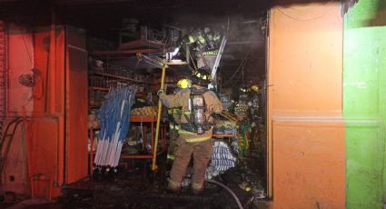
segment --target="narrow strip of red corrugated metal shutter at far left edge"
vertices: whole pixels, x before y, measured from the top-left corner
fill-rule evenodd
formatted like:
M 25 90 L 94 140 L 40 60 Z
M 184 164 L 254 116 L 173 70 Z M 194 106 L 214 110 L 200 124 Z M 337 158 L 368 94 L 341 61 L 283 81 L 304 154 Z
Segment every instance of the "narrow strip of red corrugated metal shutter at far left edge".
M 5 23 L 0 20 L 0 137 L 3 138 L 3 124 L 6 114 L 6 31 Z

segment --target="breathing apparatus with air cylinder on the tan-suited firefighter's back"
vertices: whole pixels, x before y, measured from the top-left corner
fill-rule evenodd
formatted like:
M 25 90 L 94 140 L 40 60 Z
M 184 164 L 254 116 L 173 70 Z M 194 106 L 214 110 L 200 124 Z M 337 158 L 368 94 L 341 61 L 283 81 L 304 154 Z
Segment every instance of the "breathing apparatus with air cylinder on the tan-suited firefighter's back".
M 188 132 L 197 134 L 203 134 L 211 128 L 211 124 L 208 123 L 206 118 L 206 105 L 203 94 L 207 92 L 207 89 L 198 89 L 192 87 L 189 97 L 189 113 L 183 113 L 188 123 L 181 124 L 181 128 Z

